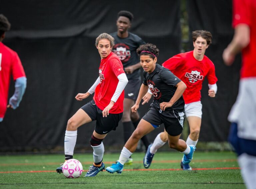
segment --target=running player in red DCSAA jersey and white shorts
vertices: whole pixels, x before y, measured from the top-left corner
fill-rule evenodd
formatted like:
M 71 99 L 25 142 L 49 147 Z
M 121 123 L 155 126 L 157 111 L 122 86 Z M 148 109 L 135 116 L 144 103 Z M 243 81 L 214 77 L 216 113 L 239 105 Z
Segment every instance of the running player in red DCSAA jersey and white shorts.
M 163 67 L 168 68 L 178 78 L 180 78 L 186 85 L 187 89 L 183 93 L 185 101 L 185 114 L 190 127 L 190 134 L 186 143 L 188 145 L 195 145 L 198 142 L 201 118 L 202 118 L 202 104 L 201 104 L 201 89 L 205 77 L 208 79 L 210 97 L 215 97 L 217 92 L 217 78 L 215 76 L 215 67 L 212 61 L 205 56 L 205 51 L 212 41 L 212 34 L 208 31 L 197 30 L 192 32 L 192 39 L 194 50 L 186 53 L 177 54 L 163 63 Z M 147 93 L 143 100 L 148 102 L 151 94 Z M 149 168 L 151 161 L 157 149 L 162 147 L 168 141 L 166 131 L 157 135 L 154 143 L 149 146 L 145 157 L 144 167 Z M 183 165 L 183 170 L 192 170 L 189 164 Z

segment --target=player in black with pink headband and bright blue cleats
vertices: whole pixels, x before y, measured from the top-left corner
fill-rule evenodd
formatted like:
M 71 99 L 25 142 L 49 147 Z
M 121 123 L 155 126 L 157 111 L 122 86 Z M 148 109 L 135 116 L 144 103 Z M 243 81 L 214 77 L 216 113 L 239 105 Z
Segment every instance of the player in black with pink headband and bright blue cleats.
M 159 50 L 155 45 L 141 45 L 137 49 L 137 53 L 140 55 L 140 64 L 144 69 L 144 81 L 140 87 L 138 98 L 131 108 L 132 112 L 137 111 L 140 101 L 147 93 L 148 88 L 154 96 L 154 101 L 123 147 L 117 164 L 106 168 L 110 173 L 121 173 L 124 163 L 135 151 L 141 137 L 158 128 L 162 123 L 168 133 L 169 147 L 184 154 L 182 158 L 183 164 L 190 163 L 196 149 L 194 145 L 188 146 L 184 140 L 179 139 L 184 120 L 185 102 L 182 94 L 186 89 L 185 83 L 169 69 L 156 64 Z

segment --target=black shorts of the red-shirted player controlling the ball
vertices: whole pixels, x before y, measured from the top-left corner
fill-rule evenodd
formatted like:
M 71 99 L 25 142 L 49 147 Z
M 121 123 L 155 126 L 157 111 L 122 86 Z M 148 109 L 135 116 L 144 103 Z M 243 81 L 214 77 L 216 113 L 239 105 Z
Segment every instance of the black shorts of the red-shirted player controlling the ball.
M 96 106 L 94 100 L 82 106 L 81 109 L 84 110 L 93 121 L 96 120 L 94 130 L 100 135 L 107 134 L 112 130 L 116 130 L 118 122 L 123 116 L 123 113 L 119 113 L 109 114 L 107 117 L 103 117 L 102 110 Z

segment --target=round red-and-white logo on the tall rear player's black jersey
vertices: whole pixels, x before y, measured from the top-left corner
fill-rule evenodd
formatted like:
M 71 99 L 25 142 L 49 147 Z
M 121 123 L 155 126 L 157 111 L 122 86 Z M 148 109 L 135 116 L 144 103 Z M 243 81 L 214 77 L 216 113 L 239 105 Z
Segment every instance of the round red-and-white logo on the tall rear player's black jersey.
M 118 56 L 122 63 L 127 62 L 131 57 L 130 48 L 123 43 L 116 44 L 113 47 L 113 52 Z

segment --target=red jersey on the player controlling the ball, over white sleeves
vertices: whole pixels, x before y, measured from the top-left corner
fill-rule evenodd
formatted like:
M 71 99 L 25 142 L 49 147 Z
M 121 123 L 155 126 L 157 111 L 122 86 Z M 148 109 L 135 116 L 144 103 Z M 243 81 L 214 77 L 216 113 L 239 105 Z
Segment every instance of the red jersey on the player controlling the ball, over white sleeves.
M 119 82 L 117 76 L 125 73 L 123 69 L 123 64 L 118 58 L 118 56 L 110 52 L 110 54 L 101 59 L 99 67 L 100 84 L 95 88 L 95 93 L 93 100 L 99 109 L 104 110 L 104 108 L 109 105 L 112 96 L 116 91 L 117 84 Z M 111 108 L 109 113 L 119 114 L 124 111 L 124 91 L 121 93 L 114 106 Z

